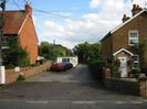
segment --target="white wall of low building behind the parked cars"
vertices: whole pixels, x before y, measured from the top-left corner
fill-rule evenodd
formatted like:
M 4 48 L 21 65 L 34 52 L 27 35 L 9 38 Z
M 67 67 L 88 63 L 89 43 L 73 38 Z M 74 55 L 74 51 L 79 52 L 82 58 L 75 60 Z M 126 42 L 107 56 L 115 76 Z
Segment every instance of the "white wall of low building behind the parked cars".
M 62 63 L 63 58 L 69 58 L 70 62 L 73 64 L 73 67 L 76 67 L 77 64 L 78 64 L 78 57 L 77 56 L 73 56 L 73 57 L 72 56 L 69 56 L 69 57 L 57 57 L 56 62 L 57 63 Z

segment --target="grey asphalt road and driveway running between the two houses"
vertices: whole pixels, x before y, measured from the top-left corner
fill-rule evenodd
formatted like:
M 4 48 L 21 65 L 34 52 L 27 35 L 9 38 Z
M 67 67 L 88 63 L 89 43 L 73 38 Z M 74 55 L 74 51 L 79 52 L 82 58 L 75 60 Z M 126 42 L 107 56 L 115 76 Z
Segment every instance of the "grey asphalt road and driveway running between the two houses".
M 95 83 L 86 65 L 45 72 L 0 89 L 0 109 L 147 109 L 147 100 L 109 91 Z

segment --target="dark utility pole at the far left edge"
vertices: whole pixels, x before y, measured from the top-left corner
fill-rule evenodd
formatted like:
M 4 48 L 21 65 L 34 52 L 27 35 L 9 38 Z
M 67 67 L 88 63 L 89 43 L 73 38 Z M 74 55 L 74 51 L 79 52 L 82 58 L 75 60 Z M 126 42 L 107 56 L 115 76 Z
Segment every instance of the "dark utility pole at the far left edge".
M 4 11 L 6 11 L 6 0 L 0 0 L 0 8 L 2 9 L 1 11 L 1 17 L 0 17 L 0 66 L 2 66 L 2 46 L 3 46 L 3 25 L 4 25 Z

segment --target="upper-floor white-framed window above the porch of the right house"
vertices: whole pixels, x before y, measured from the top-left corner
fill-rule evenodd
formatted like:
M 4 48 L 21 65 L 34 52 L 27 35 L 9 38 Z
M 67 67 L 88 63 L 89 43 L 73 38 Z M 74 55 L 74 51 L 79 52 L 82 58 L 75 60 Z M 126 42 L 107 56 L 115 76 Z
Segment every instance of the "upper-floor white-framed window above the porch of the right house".
M 128 32 L 128 45 L 134 46 L 139 43 L 138 31 Z

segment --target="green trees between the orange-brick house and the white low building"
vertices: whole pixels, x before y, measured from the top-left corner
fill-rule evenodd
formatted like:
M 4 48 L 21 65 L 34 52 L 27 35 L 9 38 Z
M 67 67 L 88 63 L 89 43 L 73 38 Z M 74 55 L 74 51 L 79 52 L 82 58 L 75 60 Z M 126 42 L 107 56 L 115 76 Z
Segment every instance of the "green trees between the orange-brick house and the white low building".
M 54 45 L 48 42 L 41 42 L 41 44 L 39 45 L 39 54 L 46 59 L 55 61 L 57 56 L 72 55 L 72 52 L 71 50 L 62 45 Z

